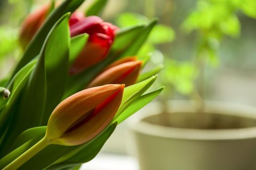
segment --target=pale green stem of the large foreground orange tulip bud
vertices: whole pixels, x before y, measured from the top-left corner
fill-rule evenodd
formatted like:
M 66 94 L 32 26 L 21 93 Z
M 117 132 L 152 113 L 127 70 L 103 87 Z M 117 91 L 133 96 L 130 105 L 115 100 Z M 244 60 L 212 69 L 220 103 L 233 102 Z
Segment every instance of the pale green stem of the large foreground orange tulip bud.
M 23 165 L 25 162 L 27 162 L 30 158 L 35 156 L 49 144 L 50 142 L 45 137 L 43 137 L 41 140 L 39 140 L 38 143 L 36 143 L 26 152 L 22 153 L 18 158 L 12 161 L 3 170 L 17 170 L 18 168 L 20 168 L 21 165 Z

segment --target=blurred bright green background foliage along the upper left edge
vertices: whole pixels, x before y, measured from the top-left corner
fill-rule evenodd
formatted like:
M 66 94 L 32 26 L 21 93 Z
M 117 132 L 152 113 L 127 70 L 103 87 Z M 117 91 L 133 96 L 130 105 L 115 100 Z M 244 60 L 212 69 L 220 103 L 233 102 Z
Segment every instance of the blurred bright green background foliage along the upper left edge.
M 32 0 L 1 0 L 0 7 L 0 77 L 9 71 L 4 66 L 12 65 L 19 59 L 19 25 L 31 10 Z M 10 13 L 10 11 L 13 11 Z M 2 69 L 4 68 L 4 69 Z

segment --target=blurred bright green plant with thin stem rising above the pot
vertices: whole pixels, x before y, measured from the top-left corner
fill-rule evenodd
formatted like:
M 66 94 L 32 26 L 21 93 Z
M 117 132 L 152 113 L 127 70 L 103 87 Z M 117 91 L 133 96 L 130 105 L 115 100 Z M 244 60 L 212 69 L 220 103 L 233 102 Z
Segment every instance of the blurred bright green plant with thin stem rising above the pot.
M 238 38 L 240 22 L 237 12 L 256 18 L 255 0 L 197 0 L 197 6 L 181 25 L 186 33 L 196 32 L 195 66 L 198 69 L 194 99 L 199 101 L 198 110 L 203 109 L 204 79 L 206 64 L 218 66 L 218 50 L 224 36 Z

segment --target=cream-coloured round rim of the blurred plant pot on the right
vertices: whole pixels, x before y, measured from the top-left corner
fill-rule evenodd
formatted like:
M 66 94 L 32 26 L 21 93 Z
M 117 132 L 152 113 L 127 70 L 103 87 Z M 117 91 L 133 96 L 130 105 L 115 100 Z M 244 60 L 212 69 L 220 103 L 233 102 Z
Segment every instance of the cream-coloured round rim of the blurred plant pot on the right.
M 195 113 L 195 108 L 190 101 L 176 100 L 167 102 L 167 110 L 175 105 L 177 108 L 173 112 Z M 194 103 L 194 102 L 192 102 Z M 206 113 L 225 114 L 239 116 L 243 118 L 256 119 L 256 107 L 229 102 L 204 101 Z M 170 107 L 170 105 L 172 105 Z M 178 107 L 186 105 L 186 107 Z M 194 109 L 193 109 L 194 108 Z M 158 109 L 158 110 L 156 110 Z M 147 107 L 138 111 L 136 116 L 129 121 L 129 126 L 133 131 L 149 136 L 164 138 L 190 139 L 190 140 L 234 140 L 256 138 L 256 126 L 236 129 L 189 129 L 178 127 L 167 127 L 152 124 L 142 119 L 158 115 L 161 113 L 161 102 L 152 102 Z

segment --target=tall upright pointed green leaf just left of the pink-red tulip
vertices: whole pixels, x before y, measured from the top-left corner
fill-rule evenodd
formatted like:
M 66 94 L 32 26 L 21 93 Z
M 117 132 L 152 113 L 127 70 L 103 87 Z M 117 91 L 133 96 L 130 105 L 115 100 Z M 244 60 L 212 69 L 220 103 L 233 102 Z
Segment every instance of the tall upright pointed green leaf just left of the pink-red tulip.
M 65 91 L 70 47 L 68 21 L 67 16 L 59 23 L 47 41 L 44 54 L 47 91 L 42 125 L 47 124 L 52 111 L 59 104 Z

